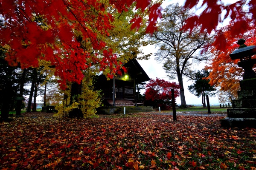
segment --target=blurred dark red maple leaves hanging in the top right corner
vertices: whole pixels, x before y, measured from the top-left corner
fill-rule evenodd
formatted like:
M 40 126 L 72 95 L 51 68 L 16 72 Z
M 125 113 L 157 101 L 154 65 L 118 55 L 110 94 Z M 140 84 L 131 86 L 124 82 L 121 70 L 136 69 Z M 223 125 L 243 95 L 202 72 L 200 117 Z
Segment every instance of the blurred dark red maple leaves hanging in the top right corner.
M 230 45 L 222 29 L 218 29 L 218 24 L 223 23 L 227 18 L 231 19 L 233 26 L 230 28 L 230 34 L 244 34 L 248 30 L 255 29 L 252 24 L 256 24 L 256 0 L 238 0 L 232 3 L 224 3 L 224 0 L 204 0 L 198 5 L 199 0 L 186 0 L 185 8 L 196 9 L 204 8 L 199 15 L 193 15 L 187 20 L 186 29 L 201 26 L 201 31 L 207 30 L 211 33 L 216 31 L 215 45 L 218 50 L 225 50 Z M 226 12 L 226 13 L 225 13 Z M 221 17 L 221 14 L 224 14 Z

